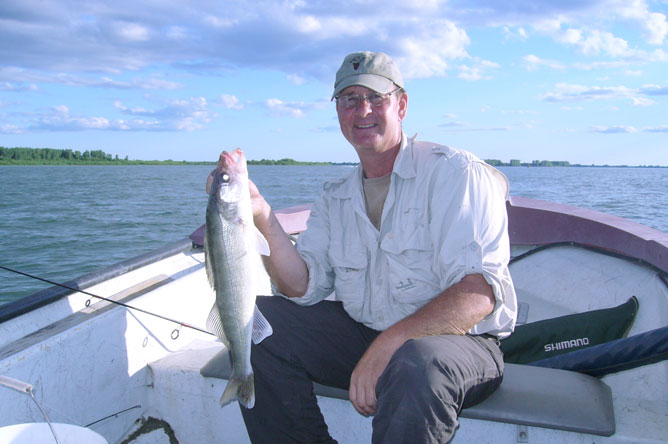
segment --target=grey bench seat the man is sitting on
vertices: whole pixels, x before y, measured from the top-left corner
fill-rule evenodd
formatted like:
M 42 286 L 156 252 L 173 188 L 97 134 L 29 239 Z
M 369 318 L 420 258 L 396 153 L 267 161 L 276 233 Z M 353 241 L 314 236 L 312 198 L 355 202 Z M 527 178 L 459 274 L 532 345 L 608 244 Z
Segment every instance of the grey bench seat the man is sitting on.
M 228 379 L 226 349 L 200 370 Z M 347 400 L 348 391 L 314 383 L 316 395 Z M 612 392 L 604 382 L 567 370 L 506 364 L 503 382 L 489 398 L 460 417 L 611 436 L 615 433 Z

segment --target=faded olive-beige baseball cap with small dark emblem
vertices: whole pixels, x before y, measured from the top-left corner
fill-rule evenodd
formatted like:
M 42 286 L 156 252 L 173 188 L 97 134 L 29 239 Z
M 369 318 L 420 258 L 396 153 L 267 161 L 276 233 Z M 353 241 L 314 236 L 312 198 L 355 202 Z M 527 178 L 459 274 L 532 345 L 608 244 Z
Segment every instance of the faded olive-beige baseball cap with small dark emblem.
M 404 79 L 397 65 L 387 54 L 354 52 L 346 56 L 341 68 L 336 72 L 332 99 L 353 85 L 365 86 L 381 94 L 387 94 L 397 86 L 403 88 Z

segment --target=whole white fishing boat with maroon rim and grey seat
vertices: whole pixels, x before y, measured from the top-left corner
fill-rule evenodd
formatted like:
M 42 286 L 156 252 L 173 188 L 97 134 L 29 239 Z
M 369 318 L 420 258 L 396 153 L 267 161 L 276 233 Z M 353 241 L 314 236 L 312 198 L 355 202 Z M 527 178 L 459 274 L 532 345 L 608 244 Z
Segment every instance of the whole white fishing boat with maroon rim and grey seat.
M 284 230 L 298 236 L 309 208 L 277 211 Z M 609 343 L 665 333 L 668 234 L 516 196 L 507 209 L 518 325 L 635 297 L 632 325 Z M 54 285 L 0 306 L 1 442 L 37 442 L 27 439 L 37 439 L 38 428 L 43 436 L 45 423 L 69 424 L 109 444 L 249 442 L 236 403 L 218 403 L 229 362 L 205 329 L 215 296 L 202 232 L 63 283 L 68 288 Z M 260 265 L 258 279 L 263 294 L 271 294 Z M 598 377 L 508 363 L 497 392 L 462 410 L 452 442 L 664 443 L 665 359 L 664 351 L 645 365 Z M 346 392 L 318 384 L 314 390 L 338 442 L 371 441 L 371 418 L 356 413 Z M 17 427 L 25 441 L 7 438 Z

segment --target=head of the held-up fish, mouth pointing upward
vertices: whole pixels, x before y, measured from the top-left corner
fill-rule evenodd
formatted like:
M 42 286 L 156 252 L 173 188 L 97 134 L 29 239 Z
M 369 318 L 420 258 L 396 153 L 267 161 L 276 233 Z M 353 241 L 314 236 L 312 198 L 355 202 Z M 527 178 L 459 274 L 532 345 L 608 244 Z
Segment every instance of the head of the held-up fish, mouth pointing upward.
M 211 193 L 215 194 L 224 214 L 238 212 L 240 206 L 250 204 L 248 167 L 243 151 L 238 148 L 231 153 L 223 151 L 213 175 Z

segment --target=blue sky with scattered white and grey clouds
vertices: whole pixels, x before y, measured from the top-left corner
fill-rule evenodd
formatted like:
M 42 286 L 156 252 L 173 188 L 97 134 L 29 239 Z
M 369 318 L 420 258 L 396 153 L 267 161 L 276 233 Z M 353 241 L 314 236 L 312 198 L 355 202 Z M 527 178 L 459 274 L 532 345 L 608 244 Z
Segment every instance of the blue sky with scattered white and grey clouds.
M 508 162 L 668 166 L 668 0 L 2 0 L 0 146 L 354 162 L 330 101 L 382 51 L 404 131 Z

